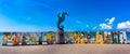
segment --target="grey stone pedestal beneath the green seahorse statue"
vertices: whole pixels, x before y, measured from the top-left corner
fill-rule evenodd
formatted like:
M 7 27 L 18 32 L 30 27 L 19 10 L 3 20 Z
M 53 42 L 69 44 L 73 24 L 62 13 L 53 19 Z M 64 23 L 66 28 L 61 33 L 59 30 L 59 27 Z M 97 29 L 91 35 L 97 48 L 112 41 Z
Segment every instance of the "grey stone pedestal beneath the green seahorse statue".
M 62 29 L 57 30 L 56 43 L 58 43 L 58 44 L 64 44 L 65 43 L 64 30 L 62 30 Z

